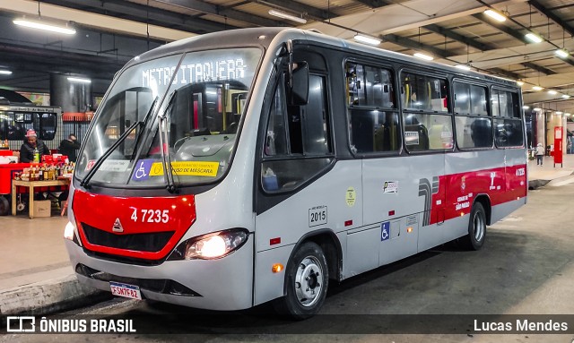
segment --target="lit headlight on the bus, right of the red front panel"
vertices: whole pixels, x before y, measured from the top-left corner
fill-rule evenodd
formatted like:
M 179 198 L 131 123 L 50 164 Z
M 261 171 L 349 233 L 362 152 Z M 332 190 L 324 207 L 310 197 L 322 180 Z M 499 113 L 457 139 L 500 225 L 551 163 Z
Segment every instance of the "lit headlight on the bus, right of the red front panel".
M 179 244 L 168 260 L 211 260 L 233 253 L 248 240 L 246 229 L 235 228 L 197 236 Z

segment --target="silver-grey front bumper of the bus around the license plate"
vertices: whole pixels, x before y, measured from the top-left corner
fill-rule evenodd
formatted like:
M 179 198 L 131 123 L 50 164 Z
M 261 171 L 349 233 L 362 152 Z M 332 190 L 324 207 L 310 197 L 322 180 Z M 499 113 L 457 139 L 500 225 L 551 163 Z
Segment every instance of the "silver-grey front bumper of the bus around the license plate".
M 253 305 L 253 239 L 216 260 L 135 265 L 91 257 L 65 239 L 77 279 L 111 291 L 109 282 L 140 287 L 143 298 L 195 308 L 234 311 Z

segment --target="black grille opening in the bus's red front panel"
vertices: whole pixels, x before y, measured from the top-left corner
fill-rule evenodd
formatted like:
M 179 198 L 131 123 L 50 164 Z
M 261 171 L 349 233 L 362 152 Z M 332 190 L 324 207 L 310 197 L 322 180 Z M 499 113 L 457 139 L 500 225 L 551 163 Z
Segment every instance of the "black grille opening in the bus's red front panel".
M 91 227 L 85 223 L 82 223 L 82 227 L 90 244 L 152 253 L 161 251 L 175 233 L 175 231 L 166 231 L 147 234 L 116 235 L 96 227 Z

